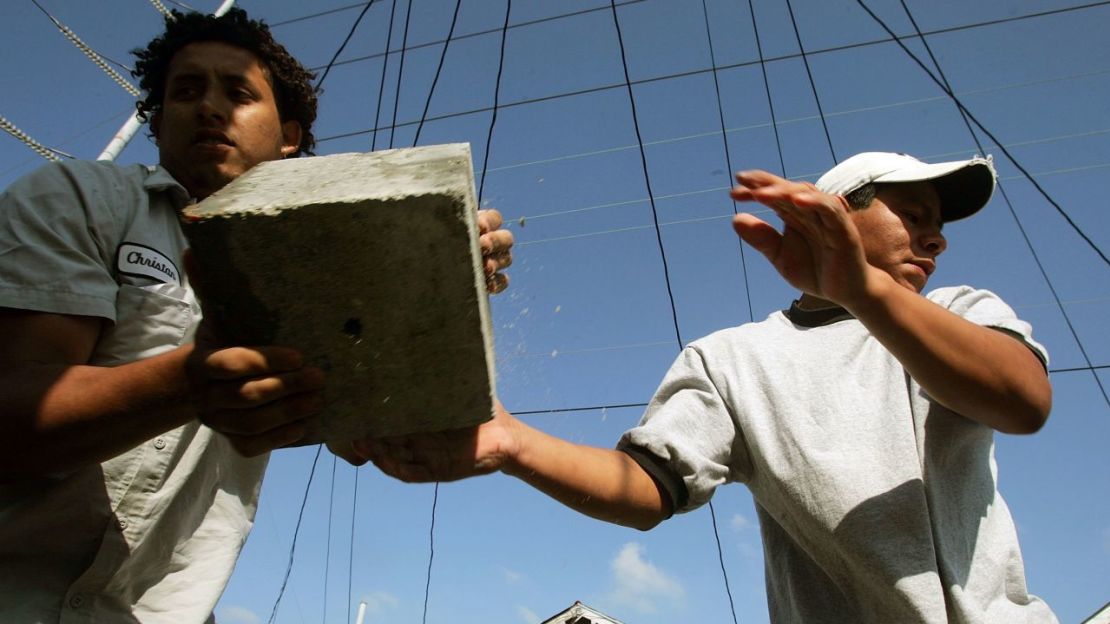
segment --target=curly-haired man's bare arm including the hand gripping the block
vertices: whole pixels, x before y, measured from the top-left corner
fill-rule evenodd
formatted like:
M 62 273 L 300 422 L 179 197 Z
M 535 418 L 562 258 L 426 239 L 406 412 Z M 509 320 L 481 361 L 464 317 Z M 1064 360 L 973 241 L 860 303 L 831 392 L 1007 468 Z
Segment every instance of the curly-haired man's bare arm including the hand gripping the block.
M 89 365 L 102 322 L 0 313 L 0 481 L 101 462 L 198 416 L 244 454 L 303 435 L 295 421 L 315 407 L 311 390 L 322 380 L 295 352 L 189 344 Z

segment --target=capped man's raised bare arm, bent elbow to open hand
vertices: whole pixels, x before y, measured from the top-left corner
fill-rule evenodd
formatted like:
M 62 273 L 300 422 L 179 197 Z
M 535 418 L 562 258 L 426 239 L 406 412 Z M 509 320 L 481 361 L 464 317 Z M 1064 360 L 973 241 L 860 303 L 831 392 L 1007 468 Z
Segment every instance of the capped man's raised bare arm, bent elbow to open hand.
M 779 233 L 740 214 L 734 219 L 737 233 L 791 285 L 850 311 L 950 410 L 1007 433 L 1043 425 L 1051 386 L 1037 356 L 1012 336 L 971 323 L 868 264 L 842 198 L 760 171 L 737 179 L 735 199 L 768 205 L 786 223 Z

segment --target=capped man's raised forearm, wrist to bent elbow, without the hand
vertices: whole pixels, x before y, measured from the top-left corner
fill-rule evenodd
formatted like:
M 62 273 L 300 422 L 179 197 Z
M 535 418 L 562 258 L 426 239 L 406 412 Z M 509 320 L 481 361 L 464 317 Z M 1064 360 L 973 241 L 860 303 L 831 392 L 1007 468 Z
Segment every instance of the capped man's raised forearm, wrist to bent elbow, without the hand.
M 885 273 L 846 305 L 937 402 L 1006 433 L 1032 433 L 1051 407 L 1040 361 L 1021 342 L 899 286 Z

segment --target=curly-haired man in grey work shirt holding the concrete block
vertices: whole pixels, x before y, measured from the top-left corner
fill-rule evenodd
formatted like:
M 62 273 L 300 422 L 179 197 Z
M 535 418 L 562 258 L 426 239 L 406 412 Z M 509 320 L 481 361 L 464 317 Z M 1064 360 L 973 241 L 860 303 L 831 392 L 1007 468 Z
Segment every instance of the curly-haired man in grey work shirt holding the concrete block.
M 238 10 L 174 13 L 137 54 L 161 167 L 51 164 L 0 195 L 3 622 L 210 620 L 266 453 L 322 409 L 296 351 L 212 339 L 179 224 L 255 164 L 311 153 L 312 74 Z M 500 221 L 478 217 L 493 292 Z

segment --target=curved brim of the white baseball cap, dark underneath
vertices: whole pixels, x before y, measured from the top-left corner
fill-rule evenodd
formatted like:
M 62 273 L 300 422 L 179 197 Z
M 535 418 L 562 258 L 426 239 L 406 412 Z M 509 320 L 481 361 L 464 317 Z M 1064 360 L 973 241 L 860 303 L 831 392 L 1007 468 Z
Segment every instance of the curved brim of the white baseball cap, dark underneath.
M 983 158 L 921 163 L 881 175 L 875 182 L 932 182 L 940 198 L 940 218 L 946 223 L 979 212 L 995 194 L 995 170 Z

